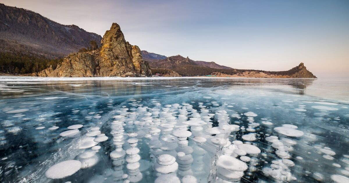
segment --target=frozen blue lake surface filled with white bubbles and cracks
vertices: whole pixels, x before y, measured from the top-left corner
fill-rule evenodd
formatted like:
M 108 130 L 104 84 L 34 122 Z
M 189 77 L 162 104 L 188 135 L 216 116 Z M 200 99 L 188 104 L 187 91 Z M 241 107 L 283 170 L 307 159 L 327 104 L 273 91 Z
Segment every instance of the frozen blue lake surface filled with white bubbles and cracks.
M 349 182 L 349 79 L 0 76 L 0 182 Z

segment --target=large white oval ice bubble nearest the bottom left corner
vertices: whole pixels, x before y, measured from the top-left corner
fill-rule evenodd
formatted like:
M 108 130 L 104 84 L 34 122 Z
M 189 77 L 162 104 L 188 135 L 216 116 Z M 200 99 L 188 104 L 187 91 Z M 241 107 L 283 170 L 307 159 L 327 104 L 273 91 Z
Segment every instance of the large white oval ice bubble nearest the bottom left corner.
M 45 176 L 52 179 L 65 178 L 75 174 L 81 168 L 81 162 L 77 160 L 67 160 L 59 162 L 50 167 L 46 172 Z

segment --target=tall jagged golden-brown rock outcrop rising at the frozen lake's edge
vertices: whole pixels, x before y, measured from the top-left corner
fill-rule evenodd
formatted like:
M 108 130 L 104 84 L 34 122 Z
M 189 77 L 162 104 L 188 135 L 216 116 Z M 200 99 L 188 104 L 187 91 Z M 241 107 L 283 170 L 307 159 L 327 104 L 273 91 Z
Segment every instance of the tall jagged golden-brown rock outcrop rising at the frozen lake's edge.
M 49 77 L 140 77 L 151 76 L 149 63 L 142 58 L 138 46 L 126 42 L 120 26 L 113 23 L 106 31 L 102 46 L 94 51 L 71 53 L 50 73 L 40 71 L 37 76 Z M 45 73 L 45 74 L 43 74 Z

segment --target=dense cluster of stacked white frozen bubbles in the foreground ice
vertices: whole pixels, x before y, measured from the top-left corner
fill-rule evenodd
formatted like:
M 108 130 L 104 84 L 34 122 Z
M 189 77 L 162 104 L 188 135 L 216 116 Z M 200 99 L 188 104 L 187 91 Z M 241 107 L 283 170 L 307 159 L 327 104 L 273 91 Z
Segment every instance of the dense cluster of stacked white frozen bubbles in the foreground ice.
M 255 129 L 273 123 L 267 119 L 256 122 L 254 117 L 258 115 L 254 112 L 228 114 L 224 108 L 212 112 L 201 102 L 198 110 L 185 102 L 165 106 L 155 100 L 151 102 L 155 107 L 143 106 L 140 101 L 130 99 L 129 107 L 114 110 L 107 135 L 99 127 L 89 128 L 84 134 L 79 130 L 83 127 L 81 124 L 67 127 L 60 136 L 78 138 L 76 148 L 81 151 L 76 158 L 48 168 L 46 177 L 61 179 L 95 166 L 101 158 L 97 153 L 103 149 L 105 143 L 102 142 L 109 139 L 112 144 L 111 151 L 107 152 L 112 161 L 110 173 L 96 176 L 92 182 L 142 182 L 147 177 L 154 177 L 156 183 L 229 183 L 242 179 L 251 182 L 248 178 L 257 171 L 276 182 L 297 180 L 292 173 L 295 161 L 291 159 L 291 153 L 298 142 L 296 139 L 305 135 L 297 130 L 297 126 L 283 124 L 273 128 L 278 136 L 268 135 L 257 133 Z M 230 124 L 231 118 L 242 117 L 248 121 L 247 128 Z M 244 131 L 243 135 L 239 136 L 238 131 Z M 266 136 L 268 143 L 262 150 L 257 140 L 261 135 Z M 142 155 L 140 146 L 148 148 L 149 153 Z M 319 145 L 315 148 L 328 160 L 336 154 L 329 147 Z M 276 158 L 259 169 L 261 159 L 270 152 L 274 152 Z M 298 156 L 296 159 L 303 158 Z M 349 156 L 344 155 L 342 161 L 347 166 L 342 167 L 341 174 L 331 175 L 334 182 L 349 182 Z M 333 166 L 341 167 L 337 163 Z M 311 176 L 318 181 L 324 180 L 321 172 Z

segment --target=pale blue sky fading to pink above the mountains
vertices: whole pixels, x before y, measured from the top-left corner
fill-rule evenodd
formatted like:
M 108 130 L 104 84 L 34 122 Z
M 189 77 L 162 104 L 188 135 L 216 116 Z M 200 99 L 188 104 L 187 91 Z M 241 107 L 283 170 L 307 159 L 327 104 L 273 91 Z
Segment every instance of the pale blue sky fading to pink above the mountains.
M 349 0 L 0 0 L 165 56 L 237 69 L 349 77 Z

